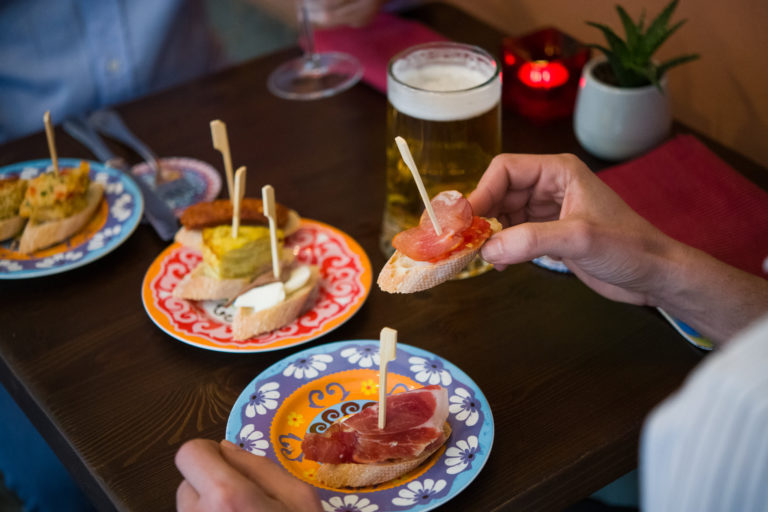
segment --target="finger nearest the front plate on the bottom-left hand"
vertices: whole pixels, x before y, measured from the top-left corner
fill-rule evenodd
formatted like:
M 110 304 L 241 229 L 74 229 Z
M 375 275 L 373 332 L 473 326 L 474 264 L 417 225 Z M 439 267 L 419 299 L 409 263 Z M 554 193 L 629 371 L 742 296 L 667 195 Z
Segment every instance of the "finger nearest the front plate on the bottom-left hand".
M 221 454 L 233 468 L 249 480 L 258 482 L 267 494 L 285 503 L 289 510 L 320 510 L 313 487 L 266 457 L 241 450 L 226 440 L 221 442 Z

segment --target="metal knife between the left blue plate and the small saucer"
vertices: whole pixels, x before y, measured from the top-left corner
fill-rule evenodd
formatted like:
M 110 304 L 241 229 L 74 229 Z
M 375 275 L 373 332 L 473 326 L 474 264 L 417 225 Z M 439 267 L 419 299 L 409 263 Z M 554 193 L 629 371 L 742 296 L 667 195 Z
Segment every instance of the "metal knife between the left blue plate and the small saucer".
M 158 236 L 168 241 L 178 230 L 176 216 L 170 206 L 158 196 L 144 180 L 131 174 L 128 164 L 107 147 L 101 136 L 83 119 L 70 119 L 63 123 L 64 131 L 85 145 L 105 165 L 122 171 L 136 183 L 144 199 L 144 216 Z

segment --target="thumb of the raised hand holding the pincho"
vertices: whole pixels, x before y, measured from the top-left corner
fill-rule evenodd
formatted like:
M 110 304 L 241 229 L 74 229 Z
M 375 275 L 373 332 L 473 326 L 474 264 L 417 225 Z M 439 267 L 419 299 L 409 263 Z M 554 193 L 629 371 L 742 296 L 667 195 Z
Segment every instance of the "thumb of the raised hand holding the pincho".
M 569 222 L 525 222 L 491 237 L 481 250 L 483 259 L 494 265 L 509 265 L 548 255 L 569 258 L 576 252 Z

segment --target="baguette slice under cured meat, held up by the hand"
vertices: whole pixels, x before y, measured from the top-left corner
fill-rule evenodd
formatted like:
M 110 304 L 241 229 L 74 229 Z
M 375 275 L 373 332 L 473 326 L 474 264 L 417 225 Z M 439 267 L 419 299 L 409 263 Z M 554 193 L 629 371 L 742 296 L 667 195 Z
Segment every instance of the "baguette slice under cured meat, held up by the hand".
M 496 219 L 486 219 L 491 224 L 491 234 L 501 231 Z M 400 251 L 389 258 L 379 273 L 377 283 L 389 293 L 414 293 L 433 288 L 461 272 L 477 256 L 482 244 L 463 249 L 437 263 L 416 261 Z

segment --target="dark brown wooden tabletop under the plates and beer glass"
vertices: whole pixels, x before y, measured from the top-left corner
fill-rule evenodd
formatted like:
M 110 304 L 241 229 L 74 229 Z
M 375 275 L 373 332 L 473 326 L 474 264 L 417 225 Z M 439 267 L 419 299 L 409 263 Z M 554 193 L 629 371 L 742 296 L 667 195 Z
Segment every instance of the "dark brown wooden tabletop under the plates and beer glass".
M 410 15 L 498 53 L 502 34 L 454 8 Z M 281 51 L 118 110 L 158 154 L 217 167 L 208 123 L 222 119 L 236 165 L 248 166 L 249 195 L 272 184 L 281 203 L 356 239 L 376 272 L 385 261 L 377 241 L 386 99 L 365 84 L 321 101 L 272 96 L 267 75 L 296 55 Z M 61 156 L 91 158 L 56 134 Z M 706 142 L 765 186 L 764 169 Z M 11 142 L 0 165 L 45 157 L 46 147 L 42 133 Z M 570 119 L 537 126 L 505 113 L 503 149 L 607 165 L 579 147 Z M 383 326 L 458 365 L 490 402 L 490 459 L 444 509 L 561 510 L 636 467 L 643 418 L 703 357 L 655 310 L 611 302 L 533 264 L 412 295 L 374 285 L 355 316 L 309 345 L 202 350 L 166 335 L 142 306 L 142 279 L 165 247 L 141 225 L 84 267 L 0 281 L 0 379 L 102 510 L 172 509 L 176 450 L 194 437 L 223 438 L 248 382 L 297 350 L 376 339 Z

